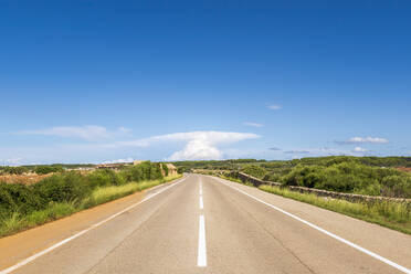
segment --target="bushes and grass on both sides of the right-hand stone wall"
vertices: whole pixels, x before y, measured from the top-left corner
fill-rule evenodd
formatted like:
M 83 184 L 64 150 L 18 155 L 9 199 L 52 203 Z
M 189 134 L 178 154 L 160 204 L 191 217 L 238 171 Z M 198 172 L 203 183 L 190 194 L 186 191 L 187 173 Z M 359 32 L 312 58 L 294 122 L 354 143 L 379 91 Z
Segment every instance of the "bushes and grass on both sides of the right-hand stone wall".
M 241 171 L 268 182 L 280 182 L 282 187 L 260 186 L 260 189 L 411 234 L 410 202 L 349 202 L 287 188 L 299 186 L 345 193 L 411 198 L 411 172 L 405 172 L 410 170 L 411 157 L 330 156 L 283 161 L 239 159 L 175 165 L 210 175 L 223 170 L 226 172 L 218 175 L 251 187 L 251 183 L 230 178 L 232 171 Z

